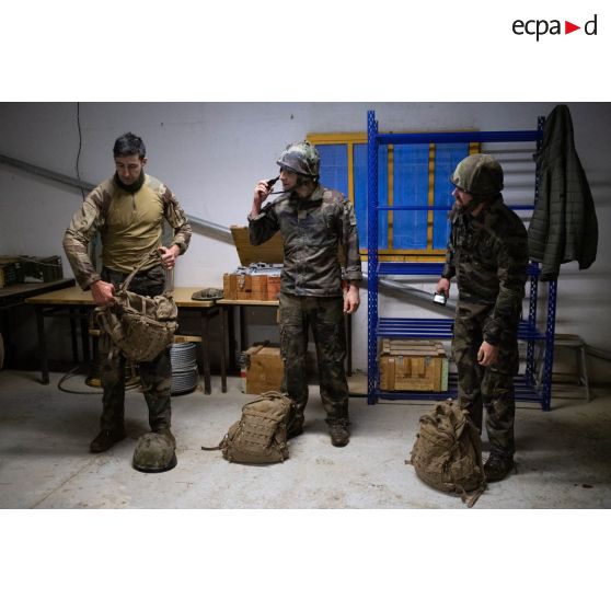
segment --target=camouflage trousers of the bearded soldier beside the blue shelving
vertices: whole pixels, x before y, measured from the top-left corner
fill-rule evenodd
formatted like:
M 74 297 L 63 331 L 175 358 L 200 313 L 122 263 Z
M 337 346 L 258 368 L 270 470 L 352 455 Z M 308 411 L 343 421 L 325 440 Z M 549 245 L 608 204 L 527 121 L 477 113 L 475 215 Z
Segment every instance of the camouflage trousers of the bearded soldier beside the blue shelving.
M 480 431 L 485 407 L 491 451 L 512 457 L 516 451 L 514 376 L 519 367 L 518 338 L 515 333 L 502 334 L 497 361 L 489 367 L 479 365 L 477 350 L 483 342 L 486 316 L 487 311 L 463 315 L 460 304 L 457 310 L 452 358 L 458 369 L 459 404 L 469 411 Z

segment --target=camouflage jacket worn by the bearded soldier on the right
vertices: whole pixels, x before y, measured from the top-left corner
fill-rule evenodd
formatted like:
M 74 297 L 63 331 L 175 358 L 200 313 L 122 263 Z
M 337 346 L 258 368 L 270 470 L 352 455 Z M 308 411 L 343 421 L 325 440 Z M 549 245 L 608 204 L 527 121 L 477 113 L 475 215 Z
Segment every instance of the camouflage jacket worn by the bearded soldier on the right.
M 499 197 L 477 217 L 453 214 L 442 277 L 457 277 L 458 315 L 488 311 L 484 339 L 516 333 L 522 311 L 528 238 L 521 219 Z

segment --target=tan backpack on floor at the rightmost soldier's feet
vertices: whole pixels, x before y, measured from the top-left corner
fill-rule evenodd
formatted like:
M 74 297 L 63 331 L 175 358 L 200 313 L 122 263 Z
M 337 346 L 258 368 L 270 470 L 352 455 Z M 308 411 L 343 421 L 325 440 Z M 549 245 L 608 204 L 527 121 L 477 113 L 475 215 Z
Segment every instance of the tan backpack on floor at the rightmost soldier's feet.
M 482 442 L 477 427 L 451 400 L 437 403 L 420 416 L 420 429 L 411 460 L 416 474 L 429 486 L 460 494 L 473 507 L 486 487 Z

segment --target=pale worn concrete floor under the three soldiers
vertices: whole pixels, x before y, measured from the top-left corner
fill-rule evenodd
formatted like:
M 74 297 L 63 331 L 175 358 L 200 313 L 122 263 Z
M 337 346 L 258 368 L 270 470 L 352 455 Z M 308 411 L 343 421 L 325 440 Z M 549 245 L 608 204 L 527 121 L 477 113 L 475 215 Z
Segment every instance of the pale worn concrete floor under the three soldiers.
M 142 474 L 130 466 L 136 439 L 146 433 L 147 410 L 138 391 L 126 400 L 128 438 L 104 454 L 90 454 L 97 433 L 100 395 L 47 387 L 38 373 L 0 372 L 0 507 L 2 508 L 464 508 L 460 498 L 423 484 L 405 459 L 419 416 L 430 404 L 353 399 L 353 437 L 331 446 L 318 389 L 311 387 L 306 433 L 290 443 L 283 464 L 226 462 L 200 446 L 220 441 L 247 395 L 240 379 L 220 392 L 173 397 L 177 466 Z M 92 391 L 84 378 L 69 390 Z M 491 484 L 475 505 L 487 508 L 611 507 L 611 392 L 595 399 L 555 397 L 552 411 L 519 403 L 518 473 Z M 486 449 L 484 445 L 484 450 Z

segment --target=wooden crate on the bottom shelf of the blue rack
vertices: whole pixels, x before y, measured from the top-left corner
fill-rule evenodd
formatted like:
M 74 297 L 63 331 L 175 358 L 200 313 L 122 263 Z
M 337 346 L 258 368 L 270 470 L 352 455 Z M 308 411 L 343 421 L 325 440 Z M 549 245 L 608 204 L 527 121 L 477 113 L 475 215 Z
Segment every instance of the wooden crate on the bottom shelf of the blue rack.
M 440 342 L 431 339 L 382 339 L 380 390 L 448 390 L 448 358 Z

